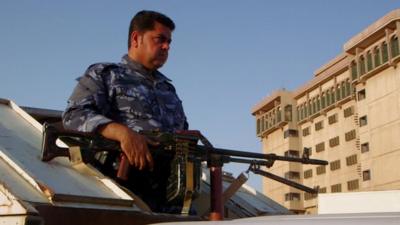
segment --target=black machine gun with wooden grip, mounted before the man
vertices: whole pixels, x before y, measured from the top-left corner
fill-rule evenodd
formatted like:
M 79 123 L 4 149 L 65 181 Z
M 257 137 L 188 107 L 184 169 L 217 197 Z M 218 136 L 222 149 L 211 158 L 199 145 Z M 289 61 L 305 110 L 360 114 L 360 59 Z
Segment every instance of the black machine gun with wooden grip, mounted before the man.
M 141 131 L 140 134 L 160 143 L 156 149 L 150 148 L 152 154 L 162 151 L 171 156 L 171 172 L 166 187 L 167 199 L 171 202 L 183 202 L 183 214 L 189 212 L 191 200 L 199 191 L 201 162 L 207 163 L 207 166 L 210 168 L 211 179 L 210 218 L 214 220 L 221 219 L 223 215 L 221 168 L 224 163 L 248 164 L 248 171 L 313 194 L 316 194 L 318 190 L 274 175 L 262 170 L 261 167 L 270 168 L 277 160 L 314 165 L 328 164 L 324 160 L 310 159 L 309 152 L 306 150 L 300 158 L 215 148 L 199 131 L 184 130 L 177 131 L 176 133 Z M 79 150 L 76 151 L 76 147 L 59 147 L 56 144 L 57 139 L 63 140 L 69 146 L 79 146 Z M 201 142 L 202 145 L 199 145 L 198 142 Z M 115 152 L 119 149 L 118 142 L 105 139 L 100 135 L 68 131 L 63 128 L 61 123 L 44 125 L 42 161 L 50 161 L 55 157 L 65 156 L 69 157 L 72 162 L 83 161 L 88 163 L 93 160 L 93 153 L 103 151 Z M 129 166 L 128 160 L 122 154 L 122 151 L 117 164 L 117 178 L 122 180 L 127 179 L 127 174 L 132 168 Z

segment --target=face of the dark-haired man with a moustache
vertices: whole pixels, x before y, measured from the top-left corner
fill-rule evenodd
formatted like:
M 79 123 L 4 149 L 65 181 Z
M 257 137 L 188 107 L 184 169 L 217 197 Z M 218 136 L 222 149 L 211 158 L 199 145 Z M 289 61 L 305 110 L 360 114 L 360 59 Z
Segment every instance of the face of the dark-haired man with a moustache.
M 137 60 L 149 70 L 160 68 L 168 59 L 169 45 L 171 43 L 171 30 L 158 23 L 154 29 L 144 33 L 137 33 L 133 41 Z

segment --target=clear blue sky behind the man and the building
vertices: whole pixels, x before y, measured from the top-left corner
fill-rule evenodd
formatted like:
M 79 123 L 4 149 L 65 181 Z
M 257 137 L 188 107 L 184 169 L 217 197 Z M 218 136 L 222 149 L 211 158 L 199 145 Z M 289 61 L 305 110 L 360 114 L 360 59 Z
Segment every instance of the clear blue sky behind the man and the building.
M 251 108 L 276 89 L 304 84 L 347 40 L 397 8 L 398 0 L 2 0 L 0 98 L 63 110 L 87 66 L 126 53 L 131 17 L 157 10 L 177 25 L 161 71 L 191 129 L 215 146 L 260 152 Z M 256 175 L 250 184 L 261 190 Z

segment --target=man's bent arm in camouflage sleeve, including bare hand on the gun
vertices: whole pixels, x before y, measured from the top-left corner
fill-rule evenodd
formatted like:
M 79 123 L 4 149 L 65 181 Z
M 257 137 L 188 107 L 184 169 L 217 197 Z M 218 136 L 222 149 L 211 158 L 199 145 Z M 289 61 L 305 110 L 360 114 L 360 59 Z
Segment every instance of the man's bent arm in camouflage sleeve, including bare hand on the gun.
M 107 88 L 99 73 L 103 68 L 89 67 L 79 79 L 68 106 L 62 115 L 66 129 L 80 132 L 99 132 L 106 138 L 119 141 L 130 164 L 143 169 L 153 165 L 146 138 L 125 125 L 106 117 L 110 109 Z M 100 72 L 99 72 L 100 70 Z

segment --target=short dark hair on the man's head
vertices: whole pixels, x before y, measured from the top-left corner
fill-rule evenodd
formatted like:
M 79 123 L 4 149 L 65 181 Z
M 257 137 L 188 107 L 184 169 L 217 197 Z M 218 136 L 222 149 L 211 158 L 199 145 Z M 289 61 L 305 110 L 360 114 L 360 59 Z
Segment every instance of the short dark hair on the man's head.
M 168 16 L 150 10 L 142 10 L 132 18 L 129 26 L 128 49 L 131 48 L 131 34 L 133 31 L 145 32 L 154 29 L 154 22 L 161 23 L 171 31 L 175 29 L 175 23 Z

